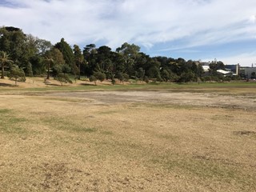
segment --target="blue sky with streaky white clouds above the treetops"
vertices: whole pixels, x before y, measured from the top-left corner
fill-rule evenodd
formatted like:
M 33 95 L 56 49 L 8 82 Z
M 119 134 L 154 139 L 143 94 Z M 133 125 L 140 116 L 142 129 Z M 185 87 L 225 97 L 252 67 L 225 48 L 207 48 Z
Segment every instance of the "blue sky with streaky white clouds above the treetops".
M 150 56 L 256 63 L 255 0 L 0 0 L 0 25 L 53 44 L 129 42 Z

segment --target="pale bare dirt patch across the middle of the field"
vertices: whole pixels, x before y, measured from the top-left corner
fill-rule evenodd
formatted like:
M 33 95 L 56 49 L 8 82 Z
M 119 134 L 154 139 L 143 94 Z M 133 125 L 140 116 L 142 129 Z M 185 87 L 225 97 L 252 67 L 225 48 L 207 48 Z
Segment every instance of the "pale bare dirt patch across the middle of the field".
M 244 110 L 256 109 L 256 98 L 248 95 L 214 94 L 194 92 L 174 92 L 172 90 L 141 90 L 141 91 L 91 91 L 49 94 L 60 98 L 86 98 L 98 104 L 118 103 L 156 103 L 189 106 L 212 106 L 237 108 Z

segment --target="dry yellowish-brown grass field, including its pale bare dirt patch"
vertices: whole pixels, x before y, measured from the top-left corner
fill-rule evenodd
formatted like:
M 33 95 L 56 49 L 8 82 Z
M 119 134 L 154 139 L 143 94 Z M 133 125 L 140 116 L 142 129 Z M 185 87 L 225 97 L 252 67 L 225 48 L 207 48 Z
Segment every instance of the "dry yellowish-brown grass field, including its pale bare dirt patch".
M 256 94 L 242 88 L 0 89 L 0 191 L 256 191 Z

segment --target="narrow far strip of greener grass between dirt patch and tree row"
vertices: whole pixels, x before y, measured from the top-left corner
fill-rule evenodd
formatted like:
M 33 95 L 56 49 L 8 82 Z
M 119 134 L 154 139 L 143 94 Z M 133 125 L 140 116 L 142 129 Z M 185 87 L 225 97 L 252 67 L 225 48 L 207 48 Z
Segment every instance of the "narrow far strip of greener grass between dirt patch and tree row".
M 236 93 L 238 89 L 246 89 L 249 92 L 255 93 L 255 82 L 227 82 L 227 83 L 149 83 L 149 84 L 126 84 L 126 85 L 97 85 L 91 86 L 87 84 L 80 84 L 78 86 L 47 86 L 43 88 L 8 88 L 1 89 L 0 92 L 9 92 L 12 94 L 40 94 L 54 91 L 88 91 L 88 90 L 171 90 L 171 91 L 186 91 L 186 92 L 209 92 L 214 91 L 218 93 Z M 7 92 L 6 92 L 7 91 Z

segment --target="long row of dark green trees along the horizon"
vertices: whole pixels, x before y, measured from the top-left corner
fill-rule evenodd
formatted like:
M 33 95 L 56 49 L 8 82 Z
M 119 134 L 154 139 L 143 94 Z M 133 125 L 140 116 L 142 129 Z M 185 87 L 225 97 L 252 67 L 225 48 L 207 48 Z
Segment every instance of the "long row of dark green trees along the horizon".
M 55 45 L 50 41 L 24 34 L 13 26 L 0 28 L 1 78 L 50 76 L 60 82 L 71 82 L 81 76 L 96 82 L 104 79 L 119 79 L 121 82 L 134 78 L 154 82 L 198 82 L 219 80 L 217 73 L 224 69 L 223 62 L 210 62 L 210 73 L 205 76 L 199 62 L 183 58 L 153 57 L 140 52 L 140 47 L 127 42 L 112 51 L 108 46 L 71 46 L 64 38 Z M 6 70 L 6 71 L 5 71 Z

